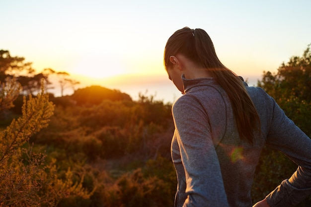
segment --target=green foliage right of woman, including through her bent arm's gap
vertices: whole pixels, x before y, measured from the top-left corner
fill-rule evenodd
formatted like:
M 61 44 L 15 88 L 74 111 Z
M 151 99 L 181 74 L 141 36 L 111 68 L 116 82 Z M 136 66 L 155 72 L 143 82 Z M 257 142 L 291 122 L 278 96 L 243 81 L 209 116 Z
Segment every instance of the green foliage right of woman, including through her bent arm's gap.
M 262 87 L 309 137 L 311 137 L 311 51 L 307 47 L 302 56 L 293 56 L 282 63 L 276 74 L 264 72 L 258 86 Z M 254 202 L 274 190 L 280 182 L 291 176 L 297 166 L 287 157 L 264 148 L 256 169 L 252 195 Z M 311 197 L 300 207 L 309 207 Z

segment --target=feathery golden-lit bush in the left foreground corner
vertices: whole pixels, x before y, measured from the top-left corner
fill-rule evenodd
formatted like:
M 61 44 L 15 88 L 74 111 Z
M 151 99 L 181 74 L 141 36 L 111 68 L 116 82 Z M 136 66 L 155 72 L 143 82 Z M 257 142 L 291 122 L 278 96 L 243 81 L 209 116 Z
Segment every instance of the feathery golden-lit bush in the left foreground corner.
M 7 85 L 8 91 L 13 89 L 16 89 L 14 84 Z M 1 131 L 1 206 L 56 206 L 62 198 L 73 195 L 84 199 L 90 197 L 91 193 L 82 187 L 83 176 L 74 182 L 73 172 L 68 169 L 65 177 L 60 179 L 56 173 L 55 159 L 46 163 L 45 153 L 36 152 L 32 146 L 27 145 L 31 136 L 47 127 L 53 110 L 54 105 L 49 102 L 49 96 L 44 94 L 44 90 L 36 98 L 30 95 L 28 101 L 24 97 L 22 115 Z

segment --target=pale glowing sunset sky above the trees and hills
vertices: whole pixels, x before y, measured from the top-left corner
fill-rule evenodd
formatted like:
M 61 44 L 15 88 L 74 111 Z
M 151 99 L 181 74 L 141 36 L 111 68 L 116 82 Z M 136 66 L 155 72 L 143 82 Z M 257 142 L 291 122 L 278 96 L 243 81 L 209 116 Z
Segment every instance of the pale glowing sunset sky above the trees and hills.
M 259 79 L 311 43 L 310 8 L 311 0 L 2 0 L 0 50 L 38 72 L 67 71 L 81 86 L 144 91 L 170 84 L 163 49 L 188 26 L 204 29 L 235 73 Z

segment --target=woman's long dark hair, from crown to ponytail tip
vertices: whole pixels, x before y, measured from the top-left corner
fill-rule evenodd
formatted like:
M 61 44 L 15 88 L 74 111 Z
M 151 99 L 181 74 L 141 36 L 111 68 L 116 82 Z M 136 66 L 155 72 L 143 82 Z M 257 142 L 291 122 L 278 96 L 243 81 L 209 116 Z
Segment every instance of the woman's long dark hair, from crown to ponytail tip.
M 240 78 L 218 59 L 209 35 L 202 29 L 184 27 L 177 30 L 164 49 L 166 69 L 172 64 L 169 57 L 176 54 L 183 54 L 209 70 L 228 94 L 240 138 L 253 143 L 254 131 L 260 131 L 259 115 Z

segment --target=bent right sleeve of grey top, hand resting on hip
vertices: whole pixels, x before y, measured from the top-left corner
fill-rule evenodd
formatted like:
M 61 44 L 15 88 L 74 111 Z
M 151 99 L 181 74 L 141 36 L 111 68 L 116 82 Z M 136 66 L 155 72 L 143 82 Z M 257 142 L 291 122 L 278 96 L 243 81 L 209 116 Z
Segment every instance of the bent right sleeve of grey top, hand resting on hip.
M 311 194 L 311 139 L 289 119 L 276 102 L 272 103 L 272 120 L 267 145 L 292 159 L 298 169 L 267 197 L 271 207 L 291 207 Z

